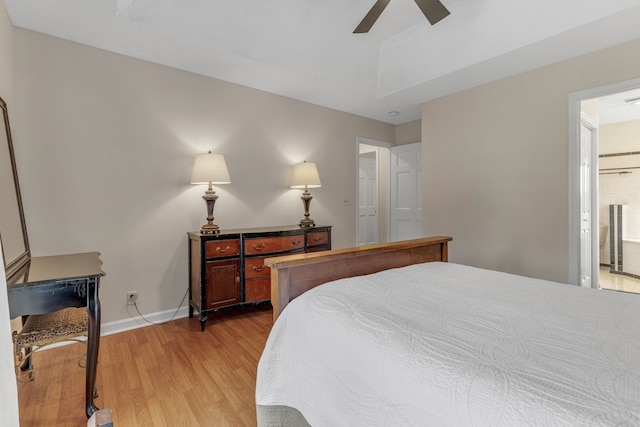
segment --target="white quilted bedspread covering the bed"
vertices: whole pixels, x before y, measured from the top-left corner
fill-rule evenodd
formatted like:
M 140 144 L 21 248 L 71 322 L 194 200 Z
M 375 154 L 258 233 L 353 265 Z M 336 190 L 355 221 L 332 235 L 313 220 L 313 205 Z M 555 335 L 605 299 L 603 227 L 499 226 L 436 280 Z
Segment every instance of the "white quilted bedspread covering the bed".
M 323 426 L 639 426 L 640 295 L 451 263 L 296 298 L 256 403 Z

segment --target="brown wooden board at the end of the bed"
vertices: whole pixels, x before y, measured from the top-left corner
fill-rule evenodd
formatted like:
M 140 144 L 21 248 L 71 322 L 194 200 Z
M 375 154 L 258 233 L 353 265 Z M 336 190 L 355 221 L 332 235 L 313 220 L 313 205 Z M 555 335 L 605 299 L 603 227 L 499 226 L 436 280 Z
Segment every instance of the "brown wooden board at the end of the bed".
M 451 240 L 436 236 L 267 258 L 264 265 L 271 268 L 273 320 L 289 301 L 323 283 L 422 262 L 447 262 Z

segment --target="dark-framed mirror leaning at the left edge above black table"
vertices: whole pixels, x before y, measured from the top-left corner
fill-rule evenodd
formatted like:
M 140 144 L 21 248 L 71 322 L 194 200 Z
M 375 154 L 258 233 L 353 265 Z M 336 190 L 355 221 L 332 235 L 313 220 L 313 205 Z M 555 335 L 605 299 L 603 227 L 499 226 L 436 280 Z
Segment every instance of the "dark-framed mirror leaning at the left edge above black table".
M 0 98 L 0 242 L 7 280 L 29 262 L 29 239 L 24 220 L 7 104 Z

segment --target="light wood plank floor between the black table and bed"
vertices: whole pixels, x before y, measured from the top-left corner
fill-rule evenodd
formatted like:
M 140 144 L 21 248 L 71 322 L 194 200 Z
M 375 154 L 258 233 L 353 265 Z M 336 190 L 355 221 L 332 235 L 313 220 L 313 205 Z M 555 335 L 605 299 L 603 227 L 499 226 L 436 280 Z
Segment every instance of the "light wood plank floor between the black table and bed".
M 114 426 L 255 426 L 256 369 L 271 329 L 271 306 L 197 314 L 102 337 L 99 408 Z M 34 355 L 36 379 L 18 384 L 20 425 L 86 426 L 83 344 Z M 1 421 L 0 421 L 0 424 Z

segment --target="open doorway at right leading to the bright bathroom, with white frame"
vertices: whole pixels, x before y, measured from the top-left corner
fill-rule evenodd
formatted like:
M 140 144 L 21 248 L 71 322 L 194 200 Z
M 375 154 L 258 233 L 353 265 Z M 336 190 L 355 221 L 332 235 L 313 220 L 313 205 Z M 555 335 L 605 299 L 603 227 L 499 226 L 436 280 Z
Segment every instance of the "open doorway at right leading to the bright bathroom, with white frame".
M 569 105 L 570 283 L 638 292 L 640 79 L 571 94 Z

